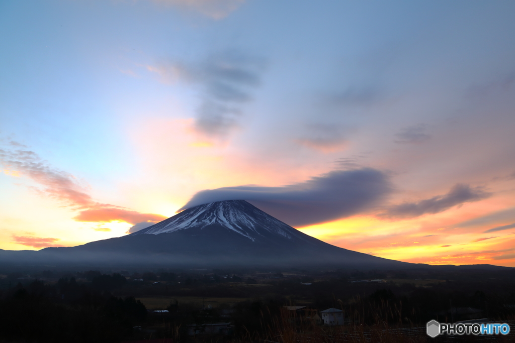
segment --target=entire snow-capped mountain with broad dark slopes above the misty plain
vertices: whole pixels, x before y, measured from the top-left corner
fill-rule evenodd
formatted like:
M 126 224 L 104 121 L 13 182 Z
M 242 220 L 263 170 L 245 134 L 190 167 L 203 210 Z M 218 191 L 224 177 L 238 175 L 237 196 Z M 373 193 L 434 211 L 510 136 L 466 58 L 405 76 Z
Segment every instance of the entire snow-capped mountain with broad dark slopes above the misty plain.
M 5 252 L 0 254 L 0 260 L 5 261 Z M 117 266 L 324 265 L 381 269 L 415 266 L 322 242 L 244 200 L 188 208 L 123 237 L 75 247 L 25 250 L 25 255 L 18 253 L 17 258 L 16 254 L 9 254 L 13 262 L 30 259 L 41 263 Z

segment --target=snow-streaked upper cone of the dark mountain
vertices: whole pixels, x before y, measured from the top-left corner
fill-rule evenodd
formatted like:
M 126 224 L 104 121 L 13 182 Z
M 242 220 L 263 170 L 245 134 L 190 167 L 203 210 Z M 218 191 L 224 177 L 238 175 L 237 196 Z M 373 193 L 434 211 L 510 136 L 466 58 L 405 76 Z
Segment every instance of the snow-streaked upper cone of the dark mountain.
M 241 234 L 252 242 L 270 240 L 274 236 L 291 241 L 306 241 L 303 237 L 305 235 L 298 230 L 244 200 L 218 201 L 188 208 L 132 234 L 160 234 L 191 229 L 206 231 L 226 229 Z

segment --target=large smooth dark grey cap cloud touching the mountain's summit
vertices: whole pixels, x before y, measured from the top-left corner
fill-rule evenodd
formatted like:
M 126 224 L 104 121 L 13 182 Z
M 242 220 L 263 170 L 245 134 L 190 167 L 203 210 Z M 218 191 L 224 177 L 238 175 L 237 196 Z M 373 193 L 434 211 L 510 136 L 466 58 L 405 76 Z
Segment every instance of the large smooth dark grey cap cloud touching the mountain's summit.
M 223 200 L 247 200 L 292 226 L 327 222 L 374 207 L 391 191 L 386 173 L 363 168 L 332 171 L 283 187 L 238 186 L 203 190 L 181 210 Z

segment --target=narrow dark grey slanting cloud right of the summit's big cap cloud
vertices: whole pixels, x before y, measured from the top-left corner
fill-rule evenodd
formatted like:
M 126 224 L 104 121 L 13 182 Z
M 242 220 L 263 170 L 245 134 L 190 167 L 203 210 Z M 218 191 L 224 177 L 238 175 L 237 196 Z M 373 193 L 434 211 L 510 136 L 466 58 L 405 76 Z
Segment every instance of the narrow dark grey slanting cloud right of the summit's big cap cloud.
M 389 218 L 414 218 L 426 213 L 443 212 L 463 203 L 483 200 L 490 195 L 490 193 L 480 188 L 457 184 L 445 195 L 437 195 L 419 202 L 396 205 L 381 215 Z

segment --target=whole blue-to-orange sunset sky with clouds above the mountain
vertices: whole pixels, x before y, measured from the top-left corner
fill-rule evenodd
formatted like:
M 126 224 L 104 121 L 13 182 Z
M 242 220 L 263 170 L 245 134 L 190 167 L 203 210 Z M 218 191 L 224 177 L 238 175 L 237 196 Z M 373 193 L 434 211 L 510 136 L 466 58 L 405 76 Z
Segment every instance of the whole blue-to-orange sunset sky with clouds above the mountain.
M 0 2 L 0 248 L 243 199 L 375 256 L 515 266 L 515 2 Z

